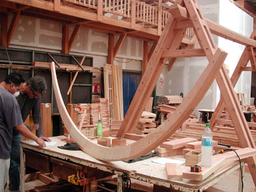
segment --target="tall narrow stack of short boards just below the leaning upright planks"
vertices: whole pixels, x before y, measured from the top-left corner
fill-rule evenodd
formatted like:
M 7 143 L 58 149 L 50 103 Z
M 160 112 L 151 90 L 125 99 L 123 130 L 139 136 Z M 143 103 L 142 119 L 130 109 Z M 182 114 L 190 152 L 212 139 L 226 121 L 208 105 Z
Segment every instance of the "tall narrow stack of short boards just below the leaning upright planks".
M 109 107 L 107 98 L 97 98 L 92 100 L 92 104 L 100 104 L 100 120 L 103 128 L 110 127 Z

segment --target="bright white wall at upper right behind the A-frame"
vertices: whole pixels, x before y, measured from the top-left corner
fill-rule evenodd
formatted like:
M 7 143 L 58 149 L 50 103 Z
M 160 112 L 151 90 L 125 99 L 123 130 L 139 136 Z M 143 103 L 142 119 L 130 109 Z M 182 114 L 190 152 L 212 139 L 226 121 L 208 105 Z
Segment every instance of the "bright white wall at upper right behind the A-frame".
M 250 37 L 253 31 L 253 18 L 228 0 L 222 0 L 220 1 L 220 25 Z M 245 46 L 219 37 L 219 47 L 228 52 L 225 64 L 229 65 L 230 75 L 232 75 Z M 244 92 L 246 104 L 250 104 L 251 74 L 252 72 L 242 72 L 235 87 L 236 92 Z

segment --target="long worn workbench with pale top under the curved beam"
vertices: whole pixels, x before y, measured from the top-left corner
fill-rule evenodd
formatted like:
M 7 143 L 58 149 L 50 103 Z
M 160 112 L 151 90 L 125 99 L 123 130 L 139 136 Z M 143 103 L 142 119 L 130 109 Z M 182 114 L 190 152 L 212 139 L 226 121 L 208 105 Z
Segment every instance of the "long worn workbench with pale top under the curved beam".
M 23 150 L 32 150 L 34 152 L 40 152 L 50 157 L 56 157 L 61 160 L 67 160 L 76 164 L 88 166 L 90 168 L 97 168 L 104 172 L 111 172 L 118 175 L 118 192 L 121 192 L 121 175 L 124 173 L 130 178 L 146 181 L 154 185 L 160 185 L 171 189 L 180 190 L 183 192 L 202 192 L 204 189 L 211 187 L 213 184 L 221 180 L 224 176 L 227 176 L 231 172 L 235 171 L 239 165 L 232 166 L 228 169 L 222 170 L 218 173 L 212 174 L 204 181 L 192 181 L 183 179 L 182 181 L 171 181 L 167 179 L 165 171 L 165 165 L 153 163 L 153 159 L 160 157 L 152 157 L 148 160 L 138 161 L 132 164 L 125 163 L 123 161 L 106 162 L 96 160 L 95 158 L 88 156 L 82 151 L 68 151 L 60 149 L 57 146 L 63 146 L 65 141 L 61 141 L 64 136 L 51 137 L 53 142 L 57 142 L 53 146 L 47 146 L 46 148 L 38 149 L 37 146 L 32 145 L 32 140 L 22 141 L 20 144 L 20 156 L 21 156 L 21 191 L 24 192 L 24 152 Z M 176 160 L 184 160 L 182 156 L 170 156 Z M 188 169 L 184 165 L 180 165 L 182 171 Z

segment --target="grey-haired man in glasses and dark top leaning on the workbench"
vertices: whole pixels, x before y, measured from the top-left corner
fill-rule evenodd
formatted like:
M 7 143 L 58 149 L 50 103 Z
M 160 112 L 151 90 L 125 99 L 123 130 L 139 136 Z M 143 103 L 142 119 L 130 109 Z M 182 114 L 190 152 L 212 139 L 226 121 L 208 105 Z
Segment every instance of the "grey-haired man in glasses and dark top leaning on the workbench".
M 42 131 L 42 115 L 41 115 L 41 95 L 46 92 L 46 83 L 44 77 L 34 76 L 27 83 L 24 83 L 20 89 L 20 94 L 16 97 L 19 105 L 23 121 L 27 119 L 32 111 L 34 125 L 29 126 L 30 131 L 36 130 L 36 136 L 51 141 L 43 136 Z M 22 136 L 17 132 L 13 132 L 11 163 L 9 168 L 9 191 L 19 192 L 20 190 L 20 141 Z

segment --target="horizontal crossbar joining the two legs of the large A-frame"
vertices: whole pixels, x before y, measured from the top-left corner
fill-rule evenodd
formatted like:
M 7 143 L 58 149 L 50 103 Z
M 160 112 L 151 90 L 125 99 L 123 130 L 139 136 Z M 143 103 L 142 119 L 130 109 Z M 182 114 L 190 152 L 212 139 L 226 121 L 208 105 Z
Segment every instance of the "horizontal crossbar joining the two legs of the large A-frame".
M 196 57 L 206 56 L 203 49 L 179 49 L 164 51 L 162 57 Z

